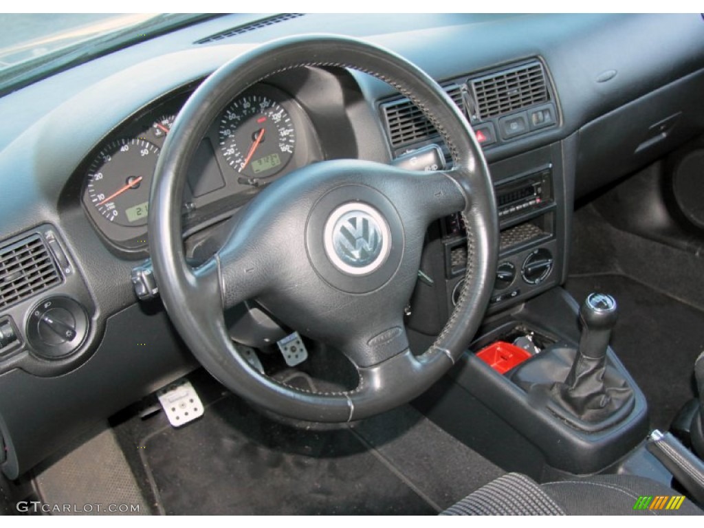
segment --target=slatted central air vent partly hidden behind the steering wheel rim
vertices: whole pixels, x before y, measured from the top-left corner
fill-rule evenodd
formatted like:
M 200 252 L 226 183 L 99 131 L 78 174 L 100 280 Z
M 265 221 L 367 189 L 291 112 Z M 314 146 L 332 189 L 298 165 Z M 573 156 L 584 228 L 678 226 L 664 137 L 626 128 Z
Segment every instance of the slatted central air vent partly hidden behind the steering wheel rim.
M 446 86 L 444 90 L 460 109 L 463 108 L 462 92 L 457 84 Z M 394 148 L 425 141 L 438 133 L 420 109 L 408 99 L 384 103 L 382 108 L 386 118 L 386 130 Z

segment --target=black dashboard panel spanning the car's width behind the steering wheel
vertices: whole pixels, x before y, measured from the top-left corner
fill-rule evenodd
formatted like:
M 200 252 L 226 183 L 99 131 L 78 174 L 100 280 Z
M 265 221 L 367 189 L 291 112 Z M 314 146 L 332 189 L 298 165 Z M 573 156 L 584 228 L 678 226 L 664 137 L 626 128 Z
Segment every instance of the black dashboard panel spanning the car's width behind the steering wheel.
M 0 434 L 8 446 L 8 462 L 2 467 L 11 476 L 42 460 L 88 420 L 106 417 L 192 366 L 161 306 L 137 305 L 130 272 L 148 256 L 146 230 L 137 225 L 141 221 L 111 229 L 86 194 L 87 175 L 105 146 L 120 139 L 141 137 L 161 148 L 164 137 L 156 134 L 154 124 L 177 115 L 203 78 L 256 44 L 322 28 L 386 46 L 443 83 L 483 77 L 527 61 L 545 66 L 550 104 L 558 117 L 555 124 L 504 137 L 486 149 L 486 156 L 498 184 L 534 178 L 546 170 L 551 175 L 546 207 L 525 215 L 509 208 L 510 218 L 501 226 L 506 239 L 520 226 L 542 234 L 507 246 L 502 263 L 520 273 L 540 249 L 551 251 L 555 262 L 549 275 L 521 283 L 515 297 L 496 301 L 494 311 L 565 279 L 575 184 L 591 190 L 617 177 L 608 172 L 610 163 L 627 170 L 634 168 L 634 160 L 644 163 L 649 158 L 634 157 L 634 149 L 648 138 L 641 139 L 629 127 L 642 125 L 647 134 L 660 119 L 658 108 L 667 111 L 662 118 L 682 112 L 679 123 L 686 126 L 656 145 L 658 154 L 704 128 L 696 102 L 704 68 L 704 20 L 697 13 L 394 15 L 392 22 L 389 15 L 311 14 L 199 44 L 260 16 L 226 15 L 163 34 L 0 99 L 0 177 L 13 182 L 0 192 L 0 244 L 25 234 L 45 236 L 51 230 L 71 268 L 61 284 L 0 309 L 0 323 L 11 317 L 15 330 L 24 332 L 33 309 L 49 295 L 80 301 L 89 319 L 87 336 L 73 358 L 42 360 L 25 347 L 22 336 L 20 346 L 0 356 Z M 271 77 L 266 86 L 253 89 L 269 91 L 296 121 L 296 149 L 286 172 L 335 158 L 385 163 L 396 154 L 385 134 L 380 105 L 398 94 L 383 82 L 349 70 L 306 68 Z M 620 113 L 623 108 L 627 113 Z M 647 119 L 634 121 L 632 116 L 643 112 Z M 501 119 L 503 115 L 491 118 L 495 128 Z M 251 182 L 240 182 L 223 158 L 218 126 L 213 123 L 205 139 L 191 172 L 190 194 L 184 196 L 184 203 L 191 204 L 184 208 L 187 244 L 199 244 L 216 226 L 227 227 L 227 218 L 257 191 Z M 603 130 L 612 134 L 605 145 L 608 156 L 595 158 L 604 146 Z M 262 158 L 260 168 L 275 163 Z M 117 191 L 120 185 L 112 188 Z M 522 185 L 511 190 L 528 192 L 524 189 Z M 125 211 L 142 203 L 130 203 Z M 131 214 L 142 218 L 141 211 Z M 436 310 L 429 311 L 446 314 L 460 279 L 448 270 L 446 256 L 451 266 L 458 237 L 448 237 L 453 233 L 442 232 L 440 225 L 435 229 L 422 269 L 442 280 L 435 283 L 432 296 L 420 283 L 415 295 L 430 299 L 426 306 Z M 515 284 L 498 288 L 496 295 L 512 293 Z M 442 325 L 442 318 L 433 324 Z M 136 348 L 135 339 L 149 341 L 149 354 Z

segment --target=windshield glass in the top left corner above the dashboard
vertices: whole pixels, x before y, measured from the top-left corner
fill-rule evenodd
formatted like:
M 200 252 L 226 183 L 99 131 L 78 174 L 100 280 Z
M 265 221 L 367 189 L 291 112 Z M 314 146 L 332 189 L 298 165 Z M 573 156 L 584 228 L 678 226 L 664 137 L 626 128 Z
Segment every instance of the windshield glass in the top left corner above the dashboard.
M 0 95 L 76 63 L 211 15 L 0 14 Z

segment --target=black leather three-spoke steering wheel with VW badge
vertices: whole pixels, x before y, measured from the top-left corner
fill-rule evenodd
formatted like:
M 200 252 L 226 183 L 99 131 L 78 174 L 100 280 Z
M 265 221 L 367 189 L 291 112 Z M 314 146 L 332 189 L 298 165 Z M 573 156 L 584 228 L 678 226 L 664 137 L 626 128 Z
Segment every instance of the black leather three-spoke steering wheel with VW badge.
M 265 187 L 221 249 L 191 268 L 181 208 L 187 168 L 210 123 L 237 94 L 291 68 L 339 67 L 378 77 L 436 127 L 450 170 L 419 172 L 359 160 L 323 161 Z M 425 353 L 408 346 L 403 308 L 432 220 L 462 211 L 467 271 L 459 301 Z M 482 150 L 455 104 L 404 58 L 356 39 L 277 40 L 234 58 L 187 101 L 166 140 L 151 188 L 149 244 L 163 303 L 194 356 L 228 389 L 280 415 L 359 420 L 419 396 L 465 351 L 494 285 L 498 220 Z M 313 393 L 260 374 L 240 356 L 223 311 L 256 299 L 302 334 L 342 351 L 356 389 Z

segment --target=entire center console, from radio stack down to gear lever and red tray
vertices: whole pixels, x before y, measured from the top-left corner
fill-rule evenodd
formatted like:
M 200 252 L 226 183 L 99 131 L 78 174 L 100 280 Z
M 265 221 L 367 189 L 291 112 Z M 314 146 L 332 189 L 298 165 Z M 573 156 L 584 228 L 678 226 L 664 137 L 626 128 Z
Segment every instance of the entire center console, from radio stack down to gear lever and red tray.
M 560 287 L 571 234 L 570 148 L 568 138 L 489 163 L 500 239 L 486 318 L 451 375 L 415 403 L 503 469 L 539 481 L 617 470 L 648 434 L 646 399 L 608 347 L 613 315 L 599 313 L 596 296 L 580 322 L 579 304 Z M 407 320 L 419 350 L 451 314 L 467 260 L 459 215 L 428 238 Z M 522 344 L 527 361 L 505 353 L 507 343 Z M 645 459 L 639 472 L 650 467 Z

